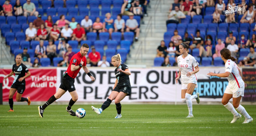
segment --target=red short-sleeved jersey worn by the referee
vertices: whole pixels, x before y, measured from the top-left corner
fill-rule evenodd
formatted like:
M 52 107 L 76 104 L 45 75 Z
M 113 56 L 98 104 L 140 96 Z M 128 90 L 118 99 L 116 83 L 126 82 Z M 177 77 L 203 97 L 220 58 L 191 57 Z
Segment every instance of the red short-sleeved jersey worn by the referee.
M 82 56 L 80 51 L 78 53 L 76 53 L 75 55 L 72 56 L 71 60 L 70 60 L 70 63 L 69 63 L 69 66 L 66 70 L 67 74 L 72 77 L 72 78 L 75 78 L 76 75 L 78 74 L 78 72 L 80 71 L 81 68 L 78 68 L 77 70 L 75 71 L 71 71 L 71 65 L 75 65 L 75 66 L 78 66 L 81 62 L 81 60 L 83 60 L 83 66 L 86 66 L 86 58 L 85 56 Z

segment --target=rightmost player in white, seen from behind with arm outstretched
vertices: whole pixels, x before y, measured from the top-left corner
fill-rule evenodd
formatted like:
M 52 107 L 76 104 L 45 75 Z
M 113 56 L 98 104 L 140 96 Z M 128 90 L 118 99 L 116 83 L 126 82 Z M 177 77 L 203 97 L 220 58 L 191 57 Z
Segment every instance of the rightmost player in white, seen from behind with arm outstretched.
M 234 118 L 230 123 L 235 123 L 237 119 L 241 118 L 241 114 L 245 117 L 243 123 L 252 122 L 252 117 L 246 112 L 244 107 L 240 105 L 240 100 L 244 96 L 244 87 L 247 86 L 242 79 L 242 71 L 237 67 L 235 61 L 236 59 L 231 57 L 231 53 L 227 48 L 224 48 L 220 51 L 221 59 L 225 63 L 225 73 L 213 73 L 210 72 L 207 75 L 218 76 L 218 77 L 227 77 L 228 85 L 222 97 L 221 103 L 230 111 Z M 233 105 L 228 101 L 233 98 Z M 241 113 L 237 113 L 236 110 Z

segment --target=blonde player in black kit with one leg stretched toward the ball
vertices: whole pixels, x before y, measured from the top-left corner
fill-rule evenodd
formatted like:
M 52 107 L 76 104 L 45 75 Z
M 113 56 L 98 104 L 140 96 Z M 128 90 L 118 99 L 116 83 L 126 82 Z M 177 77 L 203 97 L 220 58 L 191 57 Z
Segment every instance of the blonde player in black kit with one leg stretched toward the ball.
M 121 118 L 121 104 L 120 101 L 124 99 L 125 96 L 131 95 L 131 84 L 129 75 L 131 75 L 130 70 L 125 64 L 121 64 L 121 56 L 120 54 L 114 55 L 112 58 L 112 64 L 115 69 L 116 82 L 114 85 L 114 89 L 109 95 L 107 101 L 105 101 L 101 108 L 94 108 L 91 106 L 91 109 L 97 113 L 98 115 L 102 113 L 103 110 L 108 108 L 113 100 L 115 100 L 117 115 L 115 118 Z

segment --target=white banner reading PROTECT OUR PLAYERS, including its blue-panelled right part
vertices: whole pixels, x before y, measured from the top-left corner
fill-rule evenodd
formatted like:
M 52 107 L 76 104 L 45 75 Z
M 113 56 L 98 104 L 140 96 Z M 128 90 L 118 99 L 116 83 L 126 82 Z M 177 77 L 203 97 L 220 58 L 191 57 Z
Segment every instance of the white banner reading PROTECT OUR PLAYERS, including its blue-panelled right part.
M 129 67 L 129 66 L 128 66 Z M 114 67 L 96 68 L 88 67 L 90 73 L 95 77 L 95 81 L 91 81 L 89 76 L 80 69 L 75 78 L 75 89 L 78 93 L 78 101 L 80 102 L 104 102 L 110 95 L 114 83 L 115 74 Z M 129 68 L 131 71 L 131 96 L 126 96 L 123 102 L 181 102 L 181 82 L 175 82 L 178 67 L 153 67 L 153 68 Z M 221 101 L 223 92 L 228 84 L 226 78 L 209 77 L 208 72 L 221 73 L 224 67 L 199 67 L 197 73 L 196 92 L 200 93 L 201 101 Z M 57 88 L 61 84 L 62 75 L 66 68 L 57 68 Z M 57 101 L 69 101 L 70 94 L 65 93 Z

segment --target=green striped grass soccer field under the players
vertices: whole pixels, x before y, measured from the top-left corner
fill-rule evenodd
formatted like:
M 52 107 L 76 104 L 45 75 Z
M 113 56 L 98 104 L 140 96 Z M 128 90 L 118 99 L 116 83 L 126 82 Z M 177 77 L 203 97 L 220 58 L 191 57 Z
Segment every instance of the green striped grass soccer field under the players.
M 36 105 L 0 106 L 0 135 L 255 135 L 255 121 L 242 124 L 244 117 L 230 124 L 233 115 L 222 105 L 193 105 L 193 118 L 187 105 L 122 105 L 122 118 L 116 119 L 111 104 L 101 115 L 91 105 L 74 105 L 86 110 L 84 118 L 71 116 L 66 105 L 51 105 L 40 118 Z M 100 105 L 94 105 L 100 107 Z M 256 106 L 244 105 L 256 119 Z

